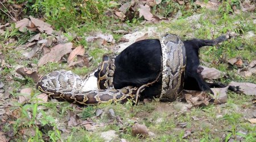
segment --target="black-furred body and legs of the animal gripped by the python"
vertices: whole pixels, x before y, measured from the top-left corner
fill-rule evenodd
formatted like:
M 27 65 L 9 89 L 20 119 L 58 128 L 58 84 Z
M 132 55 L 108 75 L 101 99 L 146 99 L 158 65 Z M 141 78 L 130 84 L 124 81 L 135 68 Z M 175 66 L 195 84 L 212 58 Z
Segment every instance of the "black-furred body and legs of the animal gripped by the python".
M 216 45 L 226 39 L 226 36 L 220 36 L 214 40 L 192 39 L 184 41 L 187 56 L 184 89 L 212 93 L 210 86 L 213 84 L 205 82 L 200 74 L 202 69 L 199 67 L 199 49 L 206 45 Z M 125 86 L 139 87 L 154 81 L 161 70 L 161 56 L 162 49 L 158 39 L 146 39 L 131 44 L 115 58 L 115 89 L 121 89 Z M 97 73 L 95 75 L 97 76 Z M 155 97 L 160 95 L 161 89 L 162 78 L 154 85 L 147 87 L 142 92 L 142 96 Z

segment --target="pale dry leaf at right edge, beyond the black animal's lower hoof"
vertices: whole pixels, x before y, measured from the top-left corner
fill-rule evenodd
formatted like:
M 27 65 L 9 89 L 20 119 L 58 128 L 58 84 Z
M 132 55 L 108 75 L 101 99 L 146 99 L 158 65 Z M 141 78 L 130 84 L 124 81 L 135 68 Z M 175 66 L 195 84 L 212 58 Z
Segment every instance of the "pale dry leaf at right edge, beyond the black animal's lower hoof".
M 247 82 L 230 82 L 229 86 L 239 86 L 240 91 L 246 95 L 256 95 L 256 84 Z

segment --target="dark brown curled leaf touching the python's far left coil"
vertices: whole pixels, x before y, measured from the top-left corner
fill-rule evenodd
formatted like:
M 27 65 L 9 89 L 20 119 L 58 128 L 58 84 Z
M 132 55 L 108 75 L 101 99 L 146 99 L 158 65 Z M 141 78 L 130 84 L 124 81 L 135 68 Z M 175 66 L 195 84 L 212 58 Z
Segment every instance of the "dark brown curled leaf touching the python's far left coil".
M 23 77 L 31 77 L 34 80 L 34 82 L 38 82 L 41 77 L 37 72 L 32 72 L 27 68 L 18 68 L 16 72 L 22 75 Z

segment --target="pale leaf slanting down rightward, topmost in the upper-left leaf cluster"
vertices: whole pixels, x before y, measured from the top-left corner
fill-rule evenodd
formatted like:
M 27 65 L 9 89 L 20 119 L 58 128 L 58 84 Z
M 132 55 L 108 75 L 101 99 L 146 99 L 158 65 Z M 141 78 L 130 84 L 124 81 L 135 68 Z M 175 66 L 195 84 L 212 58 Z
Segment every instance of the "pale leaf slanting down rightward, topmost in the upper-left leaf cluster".
M 51 24 L 43 22 L 42 20 L 36 19 L 32 16 L 30 16 L 30 20 L 32 23 L 35 24 L 36 27 L 38 27 L 38 30 L 40 32 L 46 32 L 46 34 L 48 34 L 48 35 L 52 34 L 53 29 L 51 28 Z

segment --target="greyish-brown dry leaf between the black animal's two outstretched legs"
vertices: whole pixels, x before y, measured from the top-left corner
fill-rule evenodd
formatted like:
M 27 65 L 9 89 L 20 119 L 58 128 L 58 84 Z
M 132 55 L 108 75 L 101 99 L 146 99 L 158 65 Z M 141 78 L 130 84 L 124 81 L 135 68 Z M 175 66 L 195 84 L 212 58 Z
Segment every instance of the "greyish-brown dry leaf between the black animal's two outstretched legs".
M 217 70 L 215 68 L 208 68 L 203 65 L 201 65 L 201 67 L 204 68 L 204 70 L 201 72 L 201 76 L 206 79 L 216 80 L 218 78 L 223 77 L 225 74 L 224 72 L 221 72 L 220 70 Z

